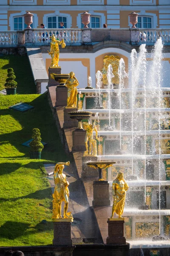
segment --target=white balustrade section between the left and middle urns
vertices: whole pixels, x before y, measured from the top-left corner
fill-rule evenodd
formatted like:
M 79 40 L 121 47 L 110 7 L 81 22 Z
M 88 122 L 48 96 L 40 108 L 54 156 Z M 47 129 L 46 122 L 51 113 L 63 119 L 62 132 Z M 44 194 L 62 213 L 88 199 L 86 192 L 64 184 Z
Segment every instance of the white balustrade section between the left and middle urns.
M 34 44 L 48 44 L 51 42 L 51 35 L 65 43 L 82 43 L 82 29 L 34 29 Z

